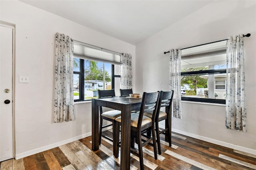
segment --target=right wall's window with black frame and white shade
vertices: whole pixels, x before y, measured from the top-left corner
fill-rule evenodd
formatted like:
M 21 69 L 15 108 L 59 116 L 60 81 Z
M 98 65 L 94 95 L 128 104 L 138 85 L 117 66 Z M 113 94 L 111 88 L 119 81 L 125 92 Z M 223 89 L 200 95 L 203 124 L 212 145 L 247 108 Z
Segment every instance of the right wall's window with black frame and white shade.
M 182 49 L 182 100 L 208 103 L 225 101 L 226 41 Z

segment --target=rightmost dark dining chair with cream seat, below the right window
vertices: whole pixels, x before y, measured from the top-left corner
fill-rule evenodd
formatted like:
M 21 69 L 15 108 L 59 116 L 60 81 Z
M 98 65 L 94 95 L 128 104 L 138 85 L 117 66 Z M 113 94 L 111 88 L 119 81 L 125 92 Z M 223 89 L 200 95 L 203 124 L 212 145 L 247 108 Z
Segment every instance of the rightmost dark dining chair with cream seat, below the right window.
M 156 142 L 158 147 L 158 154 L 161 154 L 160 146 L 160 134 L 168 134 L 169 146 L 172 146 L 171 140 L 171 130 L 172 130 L 172 98 L 174 91 L 160 91 L 160 99 L 158 103 L 158 109 L 155 116 L 155 126 L 156 126 Z M 165 107 L 165 112 L 160 111 L 161 107 Z M 145 112 L 144 116 L 152 118 L 154 116 L 153 112 Z M 165 120 L 165 128 L 159 129 L 159 122 Z

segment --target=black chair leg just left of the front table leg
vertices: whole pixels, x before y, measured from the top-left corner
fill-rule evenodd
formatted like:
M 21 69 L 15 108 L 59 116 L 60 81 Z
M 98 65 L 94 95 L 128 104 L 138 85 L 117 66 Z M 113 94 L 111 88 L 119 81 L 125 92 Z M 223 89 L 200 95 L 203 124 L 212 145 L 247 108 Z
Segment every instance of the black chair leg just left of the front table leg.
M 113 122 L 113 153 L 116 158 L 119 156 L 119 130 L 120 130 L 120 125 L 118 122 L 114 121 Z

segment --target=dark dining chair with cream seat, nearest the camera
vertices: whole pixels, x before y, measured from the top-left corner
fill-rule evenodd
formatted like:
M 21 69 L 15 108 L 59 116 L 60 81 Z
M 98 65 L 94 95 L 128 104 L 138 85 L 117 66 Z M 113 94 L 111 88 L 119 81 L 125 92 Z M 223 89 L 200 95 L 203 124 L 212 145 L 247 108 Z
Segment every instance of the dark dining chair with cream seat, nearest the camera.
M 137 113 L 131 113 L 131 153 L 138 156 L 140 158 L 140 169 L 144 169 L 143 164 L 143 152 L 142 147 L 146 144 L 148 144 L 150 141 L 153 141 L 154 146 L 154 158 L 157 159 L 157 148 L 156 148 L 156 135 L 155 135 L 155 129 L 154 129 L 154 122 L 155 122 L 155 115 L 158 108 L 158 100 L 160 98 L 160 93 L 154 92 L 154 93 L 143 93 L 142 96 L 142 103 L 140 106 L 140 114 Z M 143 115 L 144 112 L 150 112 L 152 111 L 153 115 L 152 118 L 146 117 Z M 121 117 L 116 118 L 116 124 L 114 125 L 114 131 L 115 131 L 115 145 L 117 148 L 122 146 L 119 145 L 119 132 L 120 132 L 120 126 L 121 126 Z M 122 127 L 121 127 L 122 128 Z M 152 132 L 152 136 L 143 138 L 142 139 L 142 132 L 145 130 L 150 130 Z M 122 135 L 122 134 L 121 134 Z M 138 144 L 138 153 L 136 150 L 134 150 L 134 138 L 136 138 L 136 143 Z M 116 149 L 115 156 L 118 157 L 118 149 Z

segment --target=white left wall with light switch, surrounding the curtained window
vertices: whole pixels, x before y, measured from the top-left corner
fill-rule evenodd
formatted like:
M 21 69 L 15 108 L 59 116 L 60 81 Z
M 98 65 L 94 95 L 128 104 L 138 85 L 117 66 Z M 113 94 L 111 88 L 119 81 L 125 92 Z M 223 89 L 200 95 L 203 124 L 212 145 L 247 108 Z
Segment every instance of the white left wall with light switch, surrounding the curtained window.
M 16 26 L 16 158 L 89 136 L 91 103 L 75 105 L 74 121 L 53 123 L 55 33 L 112 51 L 131 53 L 134 65 L 135 46 L 20 1 L 1 0 L 0 3 L 0 20 Z M 133 73 L 135 77 L 135 69 Z M 19 75 L 29 75 L 30 82 L 18 83 Z

